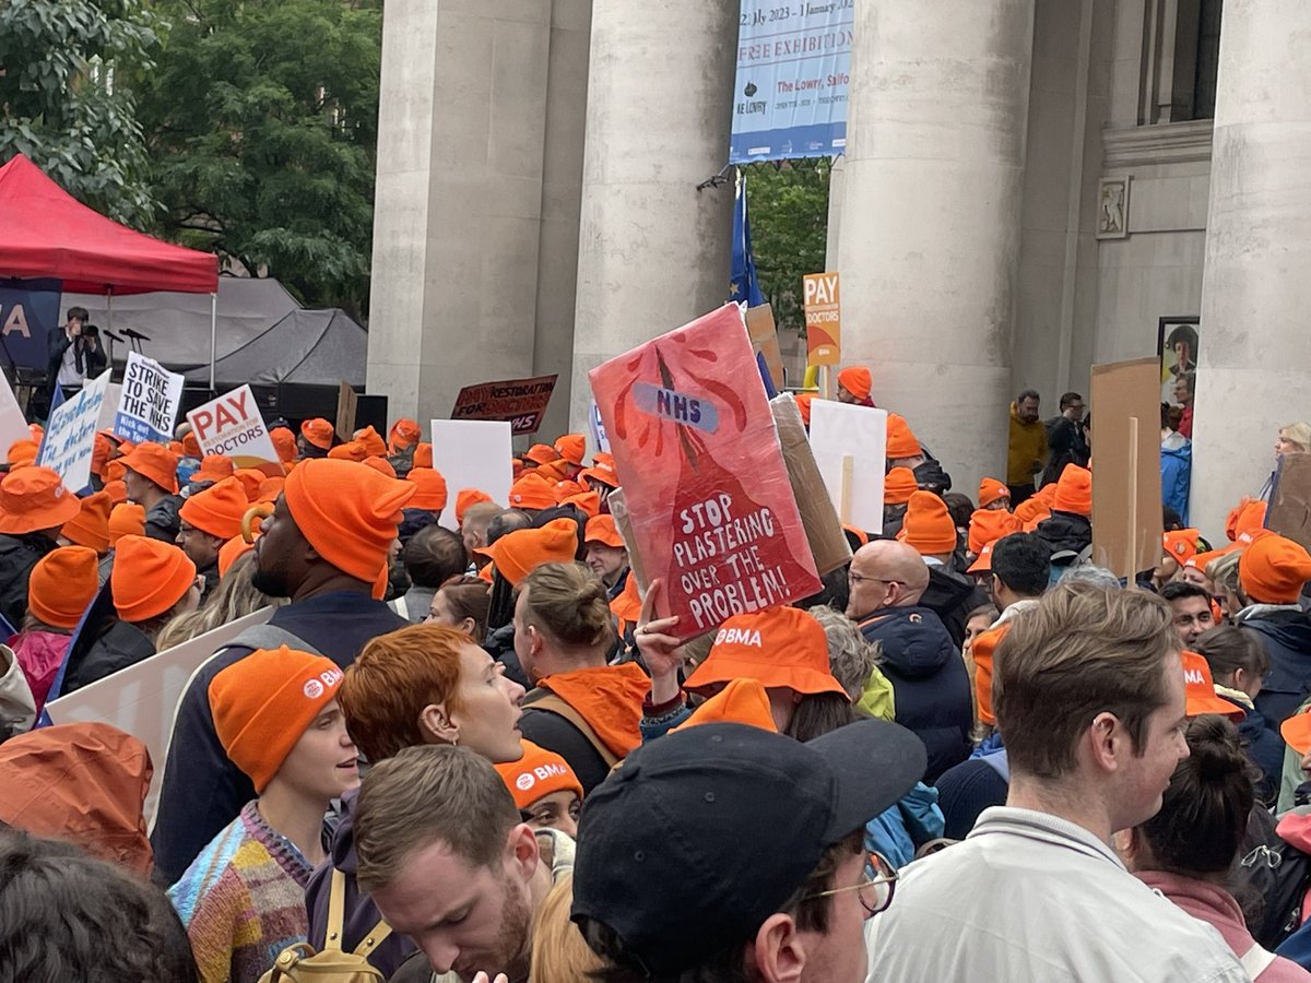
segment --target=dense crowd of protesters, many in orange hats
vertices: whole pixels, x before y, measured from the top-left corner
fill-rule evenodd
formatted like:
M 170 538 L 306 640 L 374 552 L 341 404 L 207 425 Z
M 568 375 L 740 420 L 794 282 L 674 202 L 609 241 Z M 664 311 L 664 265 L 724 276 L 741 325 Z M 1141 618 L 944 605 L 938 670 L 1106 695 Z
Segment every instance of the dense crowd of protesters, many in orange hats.
M 1167 510 L 1121 582 L 1083 400 L 1038 408 L 974 495 L 890 414 L 882 528 L 690 642 L 578 434 L 501 502 L 408 419 L 275 426 L 262 471 L 106 431 L 79 497 L 34 425 L 0 982 L 1311 979 L 1311 554 L 1260 498 L 1215 544 Z M 256 612 L 164 760 L 45 713 Z

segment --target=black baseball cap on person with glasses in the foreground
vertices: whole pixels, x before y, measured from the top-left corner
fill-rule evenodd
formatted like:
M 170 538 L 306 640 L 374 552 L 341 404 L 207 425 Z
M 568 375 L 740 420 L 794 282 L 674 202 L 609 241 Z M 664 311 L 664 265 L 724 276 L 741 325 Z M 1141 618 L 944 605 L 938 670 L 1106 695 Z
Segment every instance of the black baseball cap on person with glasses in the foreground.
M 583 803 L 572 917 L 608 925 L 648 974 L 695 966 L 753 938 L 927 763 L 876 720 L 806 743 L 742 723 L 652 741 Z

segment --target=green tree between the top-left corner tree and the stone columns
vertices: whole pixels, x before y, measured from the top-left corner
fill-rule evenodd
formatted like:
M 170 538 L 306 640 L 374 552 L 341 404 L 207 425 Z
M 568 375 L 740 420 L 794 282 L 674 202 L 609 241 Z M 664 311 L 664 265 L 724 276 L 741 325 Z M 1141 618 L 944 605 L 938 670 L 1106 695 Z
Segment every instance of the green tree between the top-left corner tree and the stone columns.
M 164 231 L 359 312 L 372 248 L 380 0 L 155 0 L 142 122 Z

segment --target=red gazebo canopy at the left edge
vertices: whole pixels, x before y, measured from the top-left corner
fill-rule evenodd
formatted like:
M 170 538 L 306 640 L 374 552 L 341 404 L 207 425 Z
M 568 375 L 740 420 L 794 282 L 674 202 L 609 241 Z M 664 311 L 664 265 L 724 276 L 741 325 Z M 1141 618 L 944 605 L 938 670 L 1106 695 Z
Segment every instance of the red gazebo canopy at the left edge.
M 106 219 L 20 153 L 0 166 L 0 279 L 46 277 L 69 294 L 212 294 L 219 260 Z

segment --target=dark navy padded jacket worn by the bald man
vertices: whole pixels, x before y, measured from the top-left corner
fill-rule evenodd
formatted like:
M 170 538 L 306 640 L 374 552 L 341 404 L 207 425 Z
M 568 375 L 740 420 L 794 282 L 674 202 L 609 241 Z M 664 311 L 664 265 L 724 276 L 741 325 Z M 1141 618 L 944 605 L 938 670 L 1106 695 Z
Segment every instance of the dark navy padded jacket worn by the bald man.
M 880 666 L 893 684 L 897 722 L 928 750 L 924 781 L 932 784 L 970 752 L 974 704 L 965 659 L 941 619 L 926 607 L 885 608 L 860 621 L 884 651 Z

